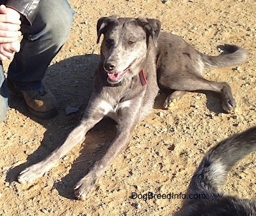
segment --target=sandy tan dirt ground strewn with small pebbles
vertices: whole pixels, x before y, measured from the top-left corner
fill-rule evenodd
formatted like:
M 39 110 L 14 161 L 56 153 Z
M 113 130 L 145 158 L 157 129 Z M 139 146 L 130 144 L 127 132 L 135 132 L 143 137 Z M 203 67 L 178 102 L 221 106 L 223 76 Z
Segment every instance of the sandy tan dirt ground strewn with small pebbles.
M 256 124 L 256 1 L 70 0 L 70 4 L 76 10 L 70 38 L 45 77 L 45 85 L 60 104 L 59 115 L 36 119 L 29 115 L 24 101 L 12 95 L 8 116 L 0 124 L 0 215 L 171 215 L 182 199 L 131 199 L 132 192 L 185 194 L 210 147 Z M 162 31 L 182 36 L 206 54 L 220 54 L 216 46 L 223 43 L 246 48 L 250 58 L 244 64 L 205 70 L 208 79 L 230 83 L 236 112 L 223 113 L 220 97 L 212 92 L 186 94 L 174 108 L 163 110 L 166 96 L 162 95 L 86 201 L 76 200 L 73 186 L 115 136 L 115 123 L 108 119 L 42 178 L 19 184 L 18 173 L 61 145 L 81 119 L 99 60 L 95 26 L 98 18 L 112 14 L 158 18 Z M 79 110 L 66 115 L 68 106 Z M 250 154 L 232 169 L 225 192 L 256 198 L 255 159 Z

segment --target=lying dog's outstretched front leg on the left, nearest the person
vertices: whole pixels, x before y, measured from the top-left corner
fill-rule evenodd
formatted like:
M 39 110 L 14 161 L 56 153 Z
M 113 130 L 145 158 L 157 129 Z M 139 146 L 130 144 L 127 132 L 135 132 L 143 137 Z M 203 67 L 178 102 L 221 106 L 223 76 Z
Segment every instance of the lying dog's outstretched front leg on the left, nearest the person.
M 36 178 L 43 176 L 44 173 L 49 171 L 49 169 L 61 159 L 61 157 L 83 141 L 86 133 L 106 115 L 106 108 L 104 107 L 106 103 L 102 103 L 102 101 L 103 100 L 98 97 L 92 96 L 84 112 L 83 119 L 81 119 L 79 125 L 68 135 L 63 145 L 56 148 L 56 150 L 43 161 L 24 169 L 18 176 L 18 181 L 20 183 L 33 182 Z

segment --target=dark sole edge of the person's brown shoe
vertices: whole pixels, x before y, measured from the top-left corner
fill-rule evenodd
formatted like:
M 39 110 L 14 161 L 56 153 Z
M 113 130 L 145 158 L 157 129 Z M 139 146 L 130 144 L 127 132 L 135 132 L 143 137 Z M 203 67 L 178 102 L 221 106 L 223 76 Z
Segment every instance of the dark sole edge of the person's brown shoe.
M 23 97 L 22 92 L 19 89 L 15 88 L 13 83 L 8 79 L 7 79 L 7 86 L 8 86 L 8 89 L 10 89 L 13 93 L 19 94 L 20 96 Z M 25 101 L 25 103 L 26 103 L 26 101 Z M 50 119 L 50 118 L 56 116 L 59 112 L 58 108 L 53 108 L 52 110 L 49 110 L 47 112 L 40 112 L 40 111 L 37 111 L 37 110 L 34 110 L 33 108 L 31 108 L 30 106 L 28 106 L 28 104 L 27 104 L 27 108 L 28 108 L 29 113 L 31 113 L 38 119 Z

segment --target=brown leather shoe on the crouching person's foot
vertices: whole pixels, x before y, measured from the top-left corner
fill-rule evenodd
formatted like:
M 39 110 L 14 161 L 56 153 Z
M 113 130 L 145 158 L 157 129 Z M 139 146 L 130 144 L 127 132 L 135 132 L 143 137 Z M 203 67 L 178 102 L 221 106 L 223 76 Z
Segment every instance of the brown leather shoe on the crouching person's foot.
M 49 119 L 58 114 L 58 104 L 52 93 L 42 86 L 37 90 L 19 90 L 12 81 L 7 80 L 8 88 L 14 93 L 22 94 L 28 110 L 32 115 L 39 119 Z

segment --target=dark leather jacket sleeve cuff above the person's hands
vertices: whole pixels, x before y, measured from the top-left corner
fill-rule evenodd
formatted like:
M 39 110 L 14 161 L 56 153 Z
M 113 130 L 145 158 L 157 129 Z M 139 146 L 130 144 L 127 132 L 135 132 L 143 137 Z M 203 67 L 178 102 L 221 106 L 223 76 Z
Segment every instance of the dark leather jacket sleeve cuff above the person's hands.
M 19 11 L 19 13 L 23 15 L 22 24 L 32 25 L 43 1 L 44 0 L 7 0 L 5 5 Z

